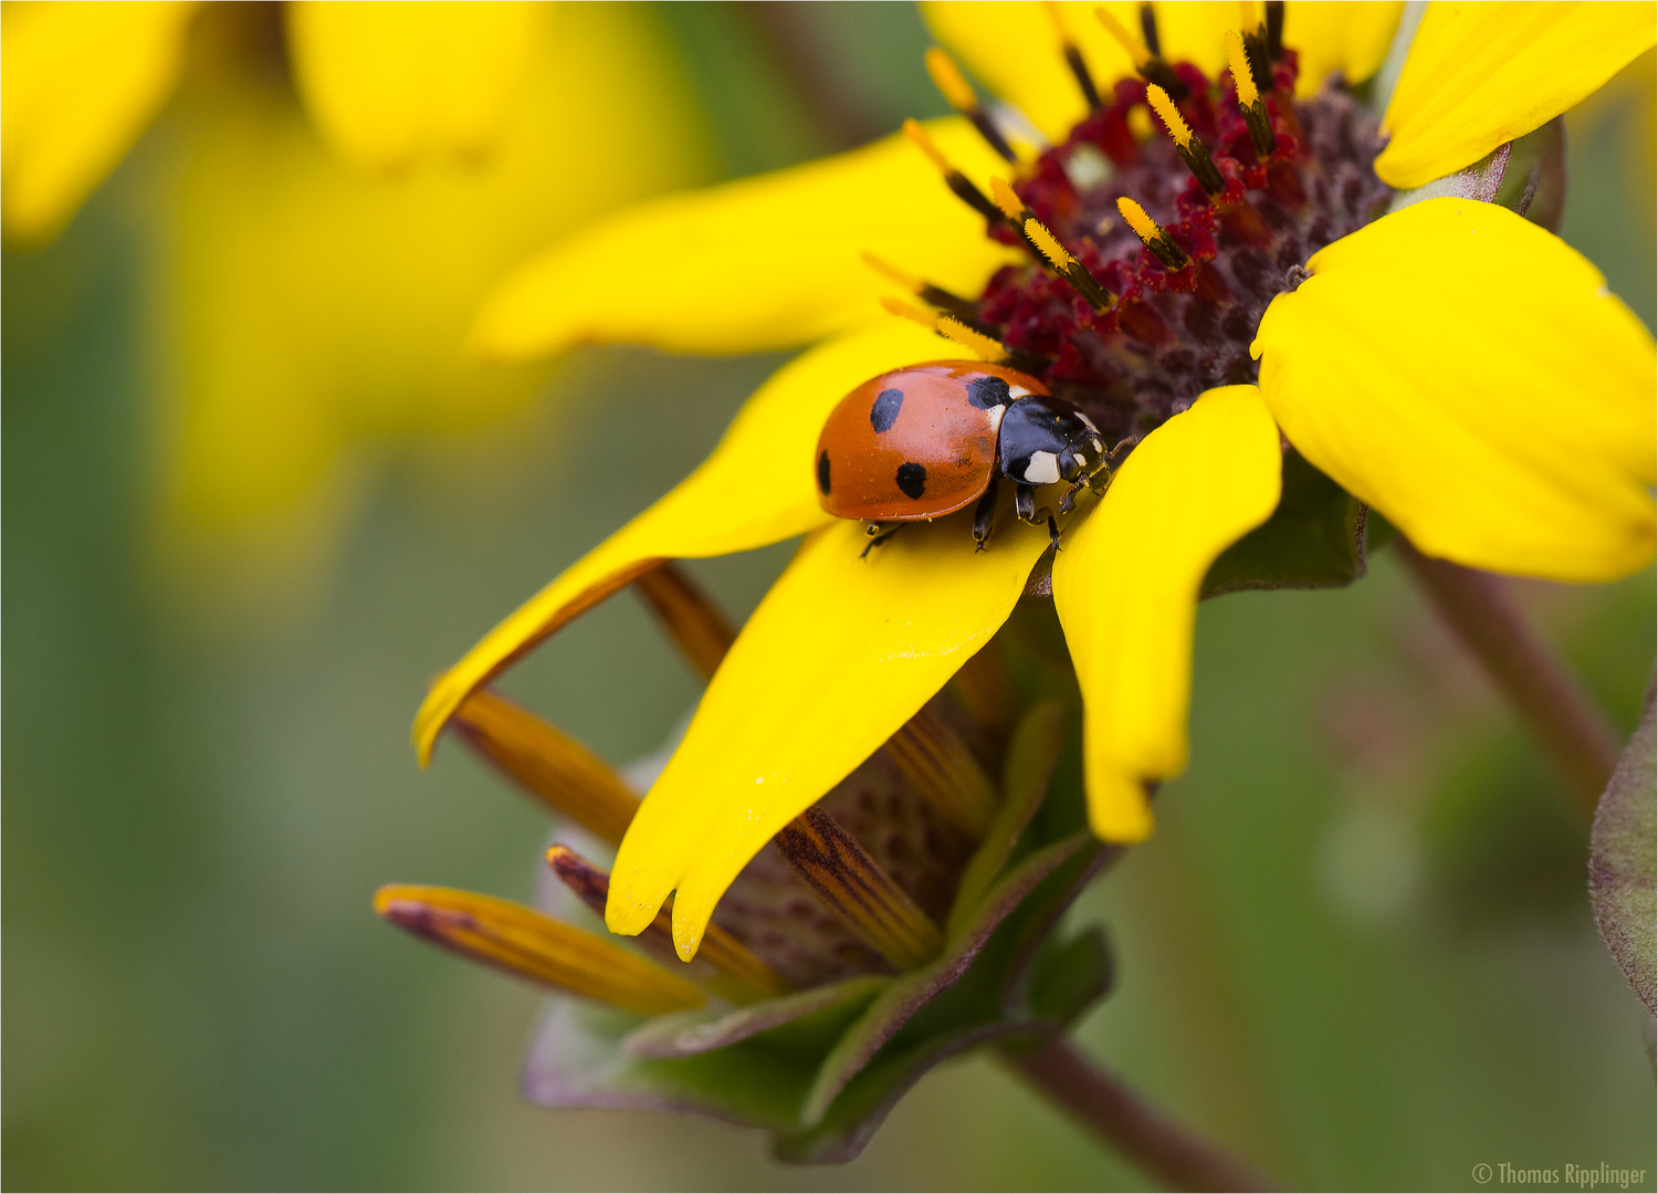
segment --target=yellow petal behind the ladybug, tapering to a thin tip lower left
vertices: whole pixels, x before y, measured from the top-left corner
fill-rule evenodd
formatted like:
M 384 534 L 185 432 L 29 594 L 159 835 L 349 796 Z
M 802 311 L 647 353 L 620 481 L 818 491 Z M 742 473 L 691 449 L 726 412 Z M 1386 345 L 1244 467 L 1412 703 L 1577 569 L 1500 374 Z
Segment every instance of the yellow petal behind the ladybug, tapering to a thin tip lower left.
M 421 764 L 469 692 L 657 561 L 763 547 L 829 521 L 812 484 L 812 448 L 831 408 L 877 373 L 938 357 L 938 345 L 912 323 L 887 320 L 784 365 L 695 473 L 531 597 L 433 685 L 414 716 Z

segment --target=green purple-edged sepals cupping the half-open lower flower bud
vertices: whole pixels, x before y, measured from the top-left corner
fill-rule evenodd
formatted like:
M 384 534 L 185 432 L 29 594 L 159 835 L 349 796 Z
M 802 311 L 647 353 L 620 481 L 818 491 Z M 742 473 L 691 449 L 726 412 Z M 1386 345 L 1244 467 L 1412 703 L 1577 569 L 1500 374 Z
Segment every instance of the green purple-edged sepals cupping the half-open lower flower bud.
M 1111 962 L 1098 930 L 1064 945 L 1053 930 L 1117 854 L 1086 829 L 1056 837 L 1031 818 L 1041 793 L 1068 781 L 1066 768 L 1053 773 L 1066 756 L 1064 713 L 1040 701 L 1015 731 L 1003 816 L 932 963 L 652 1020 L 564 1000 L 536 1033 L 524 1094 L 554 1108 L 698 1113 L 769 1131 L 779 1159 L 841 1162 L 940 1061 L 1063 1033 L 1109 992 Z

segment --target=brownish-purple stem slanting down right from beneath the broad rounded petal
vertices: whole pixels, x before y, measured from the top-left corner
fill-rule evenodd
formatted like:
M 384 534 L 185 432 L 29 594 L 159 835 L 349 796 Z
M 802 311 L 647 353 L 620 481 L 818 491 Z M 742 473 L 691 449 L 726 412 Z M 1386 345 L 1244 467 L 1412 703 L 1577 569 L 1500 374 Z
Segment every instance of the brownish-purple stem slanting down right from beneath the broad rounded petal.
M 1394 551 L 1514 705 L 1583 816 L 1593 818 L 1618 763 L 1618 736 L 1605 713 L 1537 635 L 1502 577 L 1423 556 L 1403 536 Z

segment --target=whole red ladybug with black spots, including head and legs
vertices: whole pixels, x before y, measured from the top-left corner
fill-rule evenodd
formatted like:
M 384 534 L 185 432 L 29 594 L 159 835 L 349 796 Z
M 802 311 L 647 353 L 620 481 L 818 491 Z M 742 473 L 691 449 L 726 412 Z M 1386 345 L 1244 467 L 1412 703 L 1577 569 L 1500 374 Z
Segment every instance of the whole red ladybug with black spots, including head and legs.
M 1059 501 L 1066 514 L 1113 456 L 1089 418 L 1036 378 L 982 362 L 928 362 L 870 378 L 836 405 L 817 436 L 817 502 L 869 522 L 874 547 L 905 522 L 977 501 L 973 541 L 983 551 L 1006 476 L 1020 519 L 1046 519 L 1058 547 L 1059 527 L 1051 511 L 1038 511 L 1036 489 L 1071 483 Z

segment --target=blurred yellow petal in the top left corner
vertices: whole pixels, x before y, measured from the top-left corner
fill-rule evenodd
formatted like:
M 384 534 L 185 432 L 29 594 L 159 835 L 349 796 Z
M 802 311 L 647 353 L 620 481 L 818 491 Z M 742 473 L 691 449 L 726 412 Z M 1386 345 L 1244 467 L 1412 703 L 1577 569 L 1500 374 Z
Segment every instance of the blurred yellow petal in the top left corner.
M 196 3 L 8 3 L 0 141 L 8 237 L 45 240 L 172 93 Z

